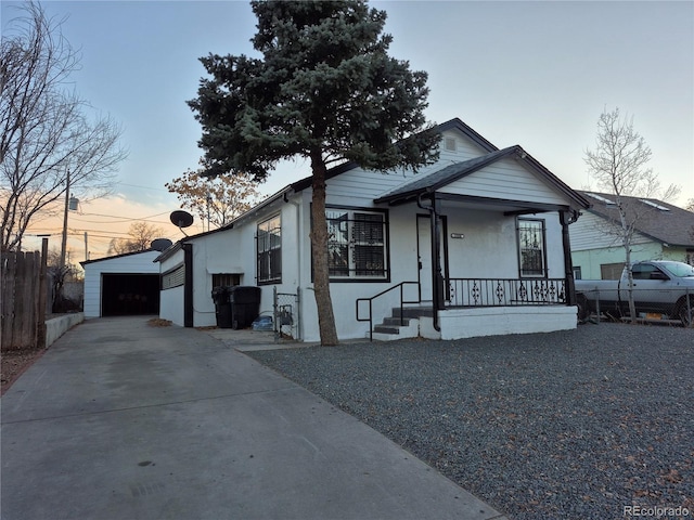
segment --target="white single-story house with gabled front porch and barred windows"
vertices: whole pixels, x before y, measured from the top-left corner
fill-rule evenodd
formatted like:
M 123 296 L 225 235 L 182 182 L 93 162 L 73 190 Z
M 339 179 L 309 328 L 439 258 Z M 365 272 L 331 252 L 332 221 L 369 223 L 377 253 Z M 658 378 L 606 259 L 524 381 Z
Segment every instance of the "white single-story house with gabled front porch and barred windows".
M 327 176 L 331 295 L 340 339 L 453 339 L 576 327 L 568 225 L 589 203 L 520 146 L 497 148 L 460 119 L 438 127 L 440 158 L 417 173 Z M 215 324 L 217 285 L 273 291 L 293 335 L 319 340 L 311 294 L 311 178 L 287 185 L 230 225 L 191 236 L 157 259 L 163 318 Z M 438 239 L 432 239 L 437 237 Z M 400 326 L 377 325 L 404 314 Z M 394 322 L 397 322 L 393 324 Z

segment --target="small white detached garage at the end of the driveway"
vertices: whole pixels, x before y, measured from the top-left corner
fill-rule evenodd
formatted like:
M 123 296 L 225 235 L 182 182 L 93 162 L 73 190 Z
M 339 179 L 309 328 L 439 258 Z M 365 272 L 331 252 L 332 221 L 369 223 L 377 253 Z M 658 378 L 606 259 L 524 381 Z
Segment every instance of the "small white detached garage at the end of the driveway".
M 158 315 L 159 255 L 151 249 L 81 262 L 85 317 Z

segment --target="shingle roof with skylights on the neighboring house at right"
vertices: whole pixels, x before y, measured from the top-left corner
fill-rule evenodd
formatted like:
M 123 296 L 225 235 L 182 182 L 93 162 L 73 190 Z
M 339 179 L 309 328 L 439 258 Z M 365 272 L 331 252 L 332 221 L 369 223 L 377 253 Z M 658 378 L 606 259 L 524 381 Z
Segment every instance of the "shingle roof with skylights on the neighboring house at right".
M 579 192 L 593 203 L 588 210 L 604 219 L 619 221 L 615 205 L 607 204 L 603 199 L 614 202 L 615 196 L 609 193 Z M 591 197 L 590 194 L 597 195 Z M 627 197 L 627 218 L 637 218 L 635 229 L 651 238 L 666 243 L 670 246 L 694 247 L 694 212 L 679 208 L 656 198 Z M 645 203 L 647 200 L 651 204 Z M 658 209 L 660 208 L 665 209 Z

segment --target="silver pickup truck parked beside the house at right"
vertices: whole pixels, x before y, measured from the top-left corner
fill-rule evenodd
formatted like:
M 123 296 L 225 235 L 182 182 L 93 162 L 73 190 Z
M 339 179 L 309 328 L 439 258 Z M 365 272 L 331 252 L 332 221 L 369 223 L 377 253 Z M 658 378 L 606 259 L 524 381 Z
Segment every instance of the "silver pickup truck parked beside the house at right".
M 653 313 L 680 320 L 691 327 L 694 322 L 694 268 L 683 262 L 654 260 L 632 264 L 633 299 L 637 314 Z M 600 311 L 620 317 L 629 314 L 629 281 L 625 268 L 619 280 L 577 280 L 576 298 L 579 317 Z M 687 303 L 689 299 L 689 303 Z

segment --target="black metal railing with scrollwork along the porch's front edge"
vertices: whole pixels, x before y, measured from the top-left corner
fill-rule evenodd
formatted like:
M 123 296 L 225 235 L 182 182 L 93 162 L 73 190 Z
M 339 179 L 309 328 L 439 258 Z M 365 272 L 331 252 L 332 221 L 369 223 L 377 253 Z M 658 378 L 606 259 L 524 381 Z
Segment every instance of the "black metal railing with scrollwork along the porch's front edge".
M 565 278 L 450 278 L 447 307 L 566 304 Z

